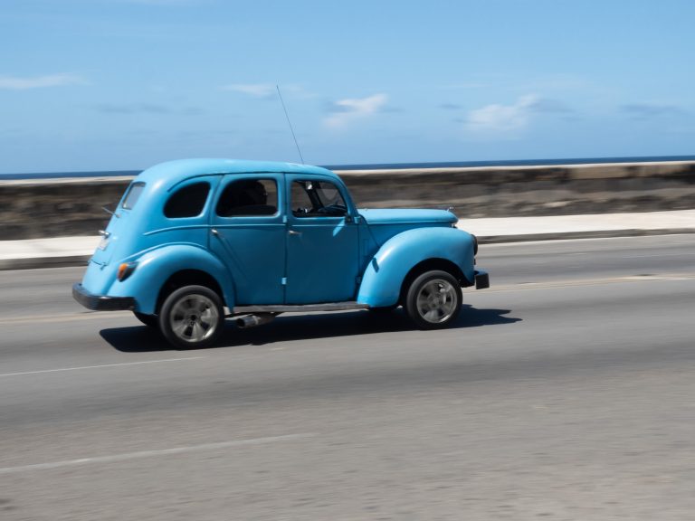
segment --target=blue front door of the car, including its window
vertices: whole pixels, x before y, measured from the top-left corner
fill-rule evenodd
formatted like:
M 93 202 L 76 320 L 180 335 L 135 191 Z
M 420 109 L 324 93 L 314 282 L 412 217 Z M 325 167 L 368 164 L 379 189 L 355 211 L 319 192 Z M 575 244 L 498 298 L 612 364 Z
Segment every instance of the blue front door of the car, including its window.
M 287 175 L 287 304 L 354 300 L 358 227 L 330 181 Z

